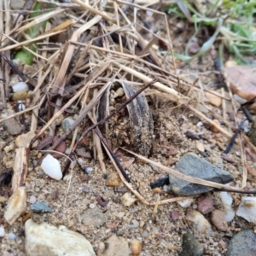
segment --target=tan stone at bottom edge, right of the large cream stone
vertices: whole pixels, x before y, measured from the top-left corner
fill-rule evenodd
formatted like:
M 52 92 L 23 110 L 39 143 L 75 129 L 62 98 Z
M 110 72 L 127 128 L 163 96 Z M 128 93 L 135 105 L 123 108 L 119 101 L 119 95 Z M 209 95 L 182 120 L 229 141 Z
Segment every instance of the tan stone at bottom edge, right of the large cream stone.
M 129 256 L 128 242 L 122 236 L 110 236 L 107 241 L 104 242 L 108 246 L 102 253 L 102 256 Z

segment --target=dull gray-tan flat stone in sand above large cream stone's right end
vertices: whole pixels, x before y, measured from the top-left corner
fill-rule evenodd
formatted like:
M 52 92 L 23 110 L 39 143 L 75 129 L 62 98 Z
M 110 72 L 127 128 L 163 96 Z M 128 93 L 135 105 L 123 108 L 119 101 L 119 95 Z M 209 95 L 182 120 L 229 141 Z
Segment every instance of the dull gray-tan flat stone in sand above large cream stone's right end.
M 82 220 L 85 226 L 102 226 L 106 222 L 104 213 L 97 207 L 87 209 L 82 215 Z

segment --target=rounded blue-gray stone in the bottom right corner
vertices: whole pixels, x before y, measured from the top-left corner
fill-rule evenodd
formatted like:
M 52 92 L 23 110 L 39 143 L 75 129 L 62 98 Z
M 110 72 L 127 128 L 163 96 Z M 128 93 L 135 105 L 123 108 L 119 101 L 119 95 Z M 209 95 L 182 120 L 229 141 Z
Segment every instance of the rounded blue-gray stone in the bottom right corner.
M 255 256 L 255 245 L 256 235 L 253 230 L 243 230 L 231 239 L 226 256 Z

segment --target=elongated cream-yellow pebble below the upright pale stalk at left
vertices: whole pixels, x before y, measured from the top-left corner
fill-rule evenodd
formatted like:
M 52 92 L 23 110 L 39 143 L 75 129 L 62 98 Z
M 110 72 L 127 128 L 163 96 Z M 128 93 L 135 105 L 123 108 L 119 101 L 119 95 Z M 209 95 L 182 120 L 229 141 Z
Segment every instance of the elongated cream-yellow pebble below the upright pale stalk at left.
M 11 225 L 24 212 L 26 212 L 26 187 L 18 187 L 9 198 L 4 218 Z

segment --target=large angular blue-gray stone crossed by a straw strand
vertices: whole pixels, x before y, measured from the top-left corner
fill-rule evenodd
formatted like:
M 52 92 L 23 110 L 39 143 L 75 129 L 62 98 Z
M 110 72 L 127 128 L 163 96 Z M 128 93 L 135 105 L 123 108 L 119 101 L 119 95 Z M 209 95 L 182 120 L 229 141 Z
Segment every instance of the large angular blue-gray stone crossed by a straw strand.
M 185 154 L 177 162 L 174 169 L 190 177 L 198 177 L 215 183 L 226 184 L 234 180 L 230 172 L 213 166 L 207 160 L 203 160 L 196 154 Z M 196 183 L 189 183 L 174 175 L 169 175 L 172 192 L 177 195 L 198 195 L 211 191 L 213 188 Z

